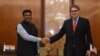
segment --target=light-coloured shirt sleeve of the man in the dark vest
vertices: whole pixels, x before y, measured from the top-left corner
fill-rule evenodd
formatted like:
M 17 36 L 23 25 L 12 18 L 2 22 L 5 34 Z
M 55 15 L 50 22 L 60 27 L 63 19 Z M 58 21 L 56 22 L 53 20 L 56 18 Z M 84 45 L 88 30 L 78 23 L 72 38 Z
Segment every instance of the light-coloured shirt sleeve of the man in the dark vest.
M 24 40 L 32 41 L 32 42 L 39 42 L 39 41 L 41 41 L 41 38 L 28 34 L 21 24 L 17 25 L 17 33 Z

